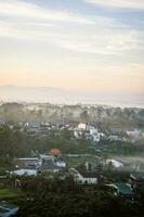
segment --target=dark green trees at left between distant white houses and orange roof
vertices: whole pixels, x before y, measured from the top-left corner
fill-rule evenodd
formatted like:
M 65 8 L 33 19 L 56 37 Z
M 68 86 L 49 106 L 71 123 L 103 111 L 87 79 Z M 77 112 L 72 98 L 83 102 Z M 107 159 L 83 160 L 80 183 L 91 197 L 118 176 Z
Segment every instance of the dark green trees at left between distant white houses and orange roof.
M 31 150 L 48 153 L 52 148 L 58 148 L 63 154 L 92 153 L 89 141 L 69 140 L 70 132 L 66 129 L 60 135 L 51 135 L 44 138 L 13 131 L 8 127 L 0 127 L 0 153 L 1 156 L 27 156 Z

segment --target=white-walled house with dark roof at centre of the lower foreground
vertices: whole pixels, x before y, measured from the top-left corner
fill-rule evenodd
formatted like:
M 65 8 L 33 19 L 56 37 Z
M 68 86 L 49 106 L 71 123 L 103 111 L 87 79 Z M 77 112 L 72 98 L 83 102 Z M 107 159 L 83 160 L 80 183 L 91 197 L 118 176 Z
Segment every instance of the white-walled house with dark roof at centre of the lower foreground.
M 69 169 L 69 175 L 74 177 L 74 180 L 81 184 L 96 184 L 99 175 L 96 173 L 81 173 L 75 168 Z

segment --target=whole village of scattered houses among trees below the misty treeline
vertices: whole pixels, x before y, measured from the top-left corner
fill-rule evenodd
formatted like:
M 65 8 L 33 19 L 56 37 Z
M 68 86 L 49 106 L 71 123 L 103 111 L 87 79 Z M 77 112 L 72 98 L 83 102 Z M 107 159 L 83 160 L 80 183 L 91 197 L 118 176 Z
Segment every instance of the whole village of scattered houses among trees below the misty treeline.
M 133 152 L 141 150 L 138 143 L 143 141 L 144 131 L 133 129 L 116 133 L 84 122 L 69 125 L 43 122 L 15 124 L 0 118 L 0 142 L 3 144 L 4 133 L 16 137 L 14 142 L 17 144 L 11 138 L 10 142 L 15 146 L 10 144 L 10 149 L 15 150 L 9 150 L 9 144 L 4 151 L 1 148 L 6 158 L 2 159 L 0 167 L 1 217 L 18 212 L 19 206 L 11 204 L 13 197 L 23 194 L 22 187 L 26 180 L 39 178 L 63 182 L 71 178 L 84 188 L 103 184 L 105 192 L 110 192 L 126 204 L 135 206 L 141 203 L 144 162 Z M 130 151 L 133 157 L 128 154 Z

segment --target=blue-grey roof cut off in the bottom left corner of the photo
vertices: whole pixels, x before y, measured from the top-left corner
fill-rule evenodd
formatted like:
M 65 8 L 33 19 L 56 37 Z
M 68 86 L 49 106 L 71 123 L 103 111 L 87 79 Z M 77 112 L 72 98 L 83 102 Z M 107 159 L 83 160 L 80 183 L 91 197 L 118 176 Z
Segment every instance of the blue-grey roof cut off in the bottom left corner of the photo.
M 5 201 L 0 202 L 0 217 L 10 217 L 18 212 L 18 207 L 6 203 Z

